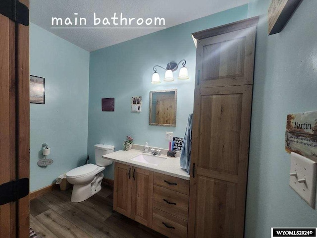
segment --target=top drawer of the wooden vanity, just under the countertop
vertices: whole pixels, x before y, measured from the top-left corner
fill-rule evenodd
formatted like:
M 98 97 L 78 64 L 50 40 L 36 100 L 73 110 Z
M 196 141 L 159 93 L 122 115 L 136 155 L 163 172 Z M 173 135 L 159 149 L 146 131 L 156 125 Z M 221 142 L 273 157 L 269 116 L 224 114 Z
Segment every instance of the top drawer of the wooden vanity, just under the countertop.
M 154 184 L 189 195 L 189 180 L 154 173 Z

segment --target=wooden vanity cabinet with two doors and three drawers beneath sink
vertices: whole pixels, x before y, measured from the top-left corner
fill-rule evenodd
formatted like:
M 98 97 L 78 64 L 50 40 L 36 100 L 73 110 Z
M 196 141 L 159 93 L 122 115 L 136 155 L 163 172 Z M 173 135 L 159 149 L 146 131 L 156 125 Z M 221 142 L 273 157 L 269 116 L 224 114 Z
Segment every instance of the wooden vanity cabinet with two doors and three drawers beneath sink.
M 115 162 L 113 191 L 113 210 L 167 237 L 187 237 L 189 180 Z

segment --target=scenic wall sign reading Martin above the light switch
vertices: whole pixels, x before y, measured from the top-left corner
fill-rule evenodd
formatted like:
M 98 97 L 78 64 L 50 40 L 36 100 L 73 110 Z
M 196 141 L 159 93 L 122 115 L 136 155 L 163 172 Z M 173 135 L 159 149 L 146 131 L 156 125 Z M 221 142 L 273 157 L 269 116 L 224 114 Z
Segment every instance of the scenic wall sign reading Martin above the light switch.
M 287 115 L 285 150 L 317 162 L 317 112 Z

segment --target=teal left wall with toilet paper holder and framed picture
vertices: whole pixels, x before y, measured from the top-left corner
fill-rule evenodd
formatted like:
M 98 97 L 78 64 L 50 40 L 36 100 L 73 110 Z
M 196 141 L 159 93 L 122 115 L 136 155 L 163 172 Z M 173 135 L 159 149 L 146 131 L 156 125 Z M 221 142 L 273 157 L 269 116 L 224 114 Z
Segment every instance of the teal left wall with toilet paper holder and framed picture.
M 45 78 L 45 105 L 30 104 L 30 191 L 87 156 L 89 52 L 30 24 L 30 74 Z M 38 167 L 42 144 L 54 163 Z

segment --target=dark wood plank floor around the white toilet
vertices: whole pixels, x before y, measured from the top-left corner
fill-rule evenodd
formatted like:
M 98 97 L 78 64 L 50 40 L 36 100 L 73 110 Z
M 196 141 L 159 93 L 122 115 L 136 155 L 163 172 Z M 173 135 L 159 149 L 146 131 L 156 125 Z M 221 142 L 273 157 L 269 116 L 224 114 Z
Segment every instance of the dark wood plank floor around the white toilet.
M 80 203 L 70 197 L 71 190 L 54 190 L 33 199 L 30 227 L 43 238 L 165 238 L 112 211 L 111 187 Z

